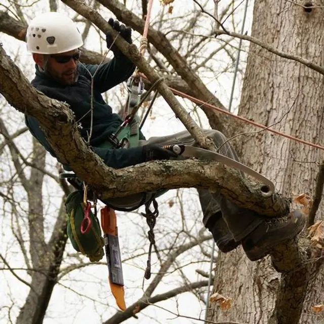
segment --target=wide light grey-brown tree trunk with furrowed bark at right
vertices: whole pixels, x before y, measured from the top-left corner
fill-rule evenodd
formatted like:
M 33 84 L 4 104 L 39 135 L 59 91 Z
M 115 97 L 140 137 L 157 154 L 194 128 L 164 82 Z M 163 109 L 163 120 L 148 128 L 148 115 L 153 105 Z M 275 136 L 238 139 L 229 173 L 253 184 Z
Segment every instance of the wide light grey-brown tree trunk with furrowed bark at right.
M 313 1 L 312 5 L 322 6 L 323 2 Z M 320 66 L 324 66 L 323 27 L 320 8 L 307 12 L 302 6 L 285 0 L 255 1 L 252 36 Z M 273 129 L 323 145 L 323 106 L 323 75 L 251 44 L 240 115 L 266 126 L 275 124 Z M 247 125 L 237 133 L 247 131 L 259 129 Z M 241 135 L 239 141 L 242 160 L 272 179 L 280 193 L 314 194 L 316 163 L 323 161 L 323 151 L 266 131 Z M 321 208 L 316 217 L 323 218 Z M 318 263 L 320 261 L 313 262 L 317 264 L 311 269 L 302 312 L 289 323 L 322 320 L 311 306 L 324 303 L 324 267 Z M 212 304 L 209 319 L 260 324 L 280 322 L 277 315 L 272 314 L 280 274 L 273 269 L 269 258 L 250 262 L 241 248 L 220 254 L 215 278 L 214 291 L 231 297 L 232 307 L 222 311 Z

